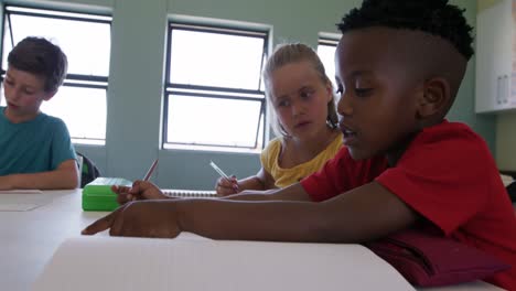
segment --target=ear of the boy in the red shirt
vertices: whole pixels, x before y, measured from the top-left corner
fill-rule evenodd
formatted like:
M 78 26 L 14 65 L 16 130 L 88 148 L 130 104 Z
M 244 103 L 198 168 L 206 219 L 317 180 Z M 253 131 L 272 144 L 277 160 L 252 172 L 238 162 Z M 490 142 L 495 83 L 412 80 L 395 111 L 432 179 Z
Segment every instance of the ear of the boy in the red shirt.
M 437 77 L 424 82 L 422 95 L 418 100 L 418 118 L 424 119 L 445 112 L 450 98 L 450 84 L 444 78 Z

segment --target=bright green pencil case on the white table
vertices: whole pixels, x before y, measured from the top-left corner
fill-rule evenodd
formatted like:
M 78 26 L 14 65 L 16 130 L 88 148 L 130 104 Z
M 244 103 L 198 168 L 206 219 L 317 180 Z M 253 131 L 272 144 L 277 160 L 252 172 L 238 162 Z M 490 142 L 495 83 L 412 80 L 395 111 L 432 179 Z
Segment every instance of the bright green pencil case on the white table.
M 111 191 L 112 185 L 131 186 L 132 182 L 123 177 L 99 176 L 83 188 L 83 211 L 112 212 L 118 208 L 117 194 Z

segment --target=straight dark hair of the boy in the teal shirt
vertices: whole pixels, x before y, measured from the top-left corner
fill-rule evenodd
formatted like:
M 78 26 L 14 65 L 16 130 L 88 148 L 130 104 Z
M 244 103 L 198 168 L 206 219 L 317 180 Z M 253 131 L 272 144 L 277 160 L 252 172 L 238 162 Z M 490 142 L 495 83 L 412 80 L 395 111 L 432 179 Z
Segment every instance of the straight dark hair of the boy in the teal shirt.
M 43 37 L 29 36 L 9 53 L 8 63 L 17 69 L 45 78 L 45 91 L 56 91 L 63 84 L 68 61 L 61 48 Z

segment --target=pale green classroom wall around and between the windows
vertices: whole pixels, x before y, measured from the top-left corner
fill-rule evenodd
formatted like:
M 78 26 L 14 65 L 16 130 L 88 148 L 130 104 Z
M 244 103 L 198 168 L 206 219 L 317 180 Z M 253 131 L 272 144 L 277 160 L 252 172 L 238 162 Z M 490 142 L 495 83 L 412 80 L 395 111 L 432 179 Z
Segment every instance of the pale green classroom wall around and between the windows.
M 0 0 L 2 1 L 2 0 Z M 26 0 L 4 1 L 23 3 Z M 160 159 L 153 181 L 161 187 L 213 188 L 217 174 L 212 159 L 237 176 L 259 169 L 258 154 L 160 150 L 166 21 L 198 17 L 251 22 L 272 28 L 272 44 L 301 41 L 316 45 L 319 32 L 336 33 L 334 23 L 359 0 L 32 0 L 43 7 L 79 11 L 110 11 L 114 17 L 108 89 L 106 147 L 76 146 L 107 176 L 140 179 L 154 158 Z M 452 1 L 466 9 L 474 25 L 476 2 Z M 281 9 L 277 9 L 281 7 Z M 289 12 L 284 12 L 288 10 Z M 208 50 L 208 48 L 206 48 Z M 207 53 L 209 53 L 207 51 Z M 216 57 L 216 56 L 214 56 Z M 494 150 L 495 118 L 474 114 L 474 60 L 470 62 L 451 120 L 471 125 Z M 200 122 L 205 121 L 200 117 Z

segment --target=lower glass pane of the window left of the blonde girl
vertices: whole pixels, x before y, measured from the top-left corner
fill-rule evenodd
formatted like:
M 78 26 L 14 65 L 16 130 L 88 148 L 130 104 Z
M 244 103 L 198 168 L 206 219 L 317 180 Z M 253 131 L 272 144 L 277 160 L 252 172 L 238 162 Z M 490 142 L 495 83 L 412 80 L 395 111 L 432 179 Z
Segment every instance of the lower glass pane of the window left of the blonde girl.
M 168 142 L 256 147 L 260 100 L 170 95 L 168 109 Z

